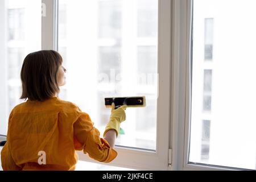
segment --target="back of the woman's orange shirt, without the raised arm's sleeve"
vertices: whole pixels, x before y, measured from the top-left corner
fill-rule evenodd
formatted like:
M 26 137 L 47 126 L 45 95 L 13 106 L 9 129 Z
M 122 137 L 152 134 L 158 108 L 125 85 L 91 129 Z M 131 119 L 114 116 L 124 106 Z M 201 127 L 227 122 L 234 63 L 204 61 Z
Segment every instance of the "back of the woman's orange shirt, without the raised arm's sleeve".
M 76 105 L 57 97 L 16 106 L 10 114 L 7 136 L 16 166 L 25 170 L 75 169 L 73 123 L 80 115 Z M 45 152 L 47 165 L 38 164 L 40 151 Z

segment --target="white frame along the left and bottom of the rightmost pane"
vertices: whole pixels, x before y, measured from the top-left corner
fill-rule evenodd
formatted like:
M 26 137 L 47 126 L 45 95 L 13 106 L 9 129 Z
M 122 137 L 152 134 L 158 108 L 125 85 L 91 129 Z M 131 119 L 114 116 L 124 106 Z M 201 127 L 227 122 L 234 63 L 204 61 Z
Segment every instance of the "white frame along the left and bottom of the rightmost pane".
M 193 0 L 172 0 L 171 169 L 241 170 L 188 162 L 191 127 L 192 6 Z

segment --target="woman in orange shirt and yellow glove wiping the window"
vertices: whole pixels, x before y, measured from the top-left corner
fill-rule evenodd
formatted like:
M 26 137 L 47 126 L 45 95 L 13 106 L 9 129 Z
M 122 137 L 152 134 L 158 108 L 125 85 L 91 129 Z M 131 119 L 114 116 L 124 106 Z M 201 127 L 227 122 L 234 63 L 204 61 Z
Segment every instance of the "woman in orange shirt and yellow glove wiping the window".
M 125 121 L 127 105 L 114 109 L 104 138 L 89 115 L 57 96 L 65 85 L 62 57 L 56 51 L 32 52 L 26 56 L 20 77 L 21 99 L 8 123 L 7 142 L 1 151 L 3 170 L 73 170 L 75 150 L 83 150 L 99 162 L 111 162 L 120 123 Z

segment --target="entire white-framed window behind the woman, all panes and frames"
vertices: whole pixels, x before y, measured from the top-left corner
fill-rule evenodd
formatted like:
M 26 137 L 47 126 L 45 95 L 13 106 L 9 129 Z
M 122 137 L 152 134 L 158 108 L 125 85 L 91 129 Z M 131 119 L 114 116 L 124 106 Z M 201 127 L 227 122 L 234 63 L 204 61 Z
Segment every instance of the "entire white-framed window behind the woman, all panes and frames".
M 58 49 L 68 69 L 60 97 L 101 133 L 105 97 L 146 96 L 147 107 L 127 110 L 110 165 L 256 169 L 255 0 L 42 2 L 0 1 L 0 135 L 20 102 L 24 56 Z

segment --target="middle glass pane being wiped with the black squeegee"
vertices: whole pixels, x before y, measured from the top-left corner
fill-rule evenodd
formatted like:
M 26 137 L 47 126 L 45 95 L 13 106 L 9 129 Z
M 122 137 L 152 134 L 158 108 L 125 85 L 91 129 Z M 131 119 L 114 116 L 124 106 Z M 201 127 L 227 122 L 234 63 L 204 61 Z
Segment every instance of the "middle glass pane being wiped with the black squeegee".
M 102 135 L 110 116 L 104 98 L 146 96 L 146 107 L 127 108 L 117 144 L 155 150 L 158 1 L 60 0 L 59 7 L 67 67 L 60 97 L 88 113 Z

